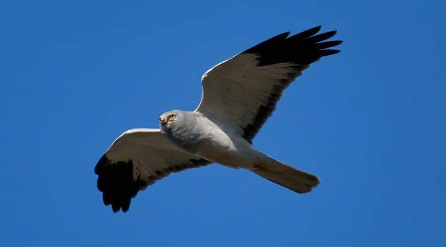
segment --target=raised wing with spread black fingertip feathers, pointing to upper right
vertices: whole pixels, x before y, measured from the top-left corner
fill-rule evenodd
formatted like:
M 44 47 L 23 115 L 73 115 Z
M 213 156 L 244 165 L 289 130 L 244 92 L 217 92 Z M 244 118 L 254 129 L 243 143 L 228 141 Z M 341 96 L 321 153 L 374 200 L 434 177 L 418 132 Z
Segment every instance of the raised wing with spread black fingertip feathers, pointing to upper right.
M 336 31 L 316 35 L 320 29 L 291 37 L 289 32 L 280 34 L 216 65 L 203 75 L 203 96 L 195 111 L 229 125 L 251 142 L 282 91 L 311 63 L 339 52 L 327 48 L 342 41 L 325 41 Z

